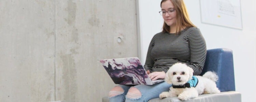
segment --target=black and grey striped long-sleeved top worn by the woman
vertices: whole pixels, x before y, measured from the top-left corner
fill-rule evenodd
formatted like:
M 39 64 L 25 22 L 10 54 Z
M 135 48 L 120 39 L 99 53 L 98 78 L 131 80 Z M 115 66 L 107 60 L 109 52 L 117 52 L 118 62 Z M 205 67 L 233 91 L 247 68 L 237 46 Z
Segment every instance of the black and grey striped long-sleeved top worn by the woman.
M 185 63 L 193 68 L 194 75 L 202 72 L 206 57 L 205 40 L 198 28 L 190 27 L 181 34 L 157 33 L 147 51 L 145 69 L 165 71 L 173 64 Z

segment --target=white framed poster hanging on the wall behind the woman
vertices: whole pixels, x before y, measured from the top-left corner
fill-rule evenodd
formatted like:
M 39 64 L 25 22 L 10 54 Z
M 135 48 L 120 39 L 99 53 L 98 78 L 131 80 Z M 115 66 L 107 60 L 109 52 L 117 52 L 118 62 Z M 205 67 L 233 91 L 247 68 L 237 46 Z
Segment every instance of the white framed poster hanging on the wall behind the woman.
M 202 23 L 242 29 L 240 0 L 200 0 Z

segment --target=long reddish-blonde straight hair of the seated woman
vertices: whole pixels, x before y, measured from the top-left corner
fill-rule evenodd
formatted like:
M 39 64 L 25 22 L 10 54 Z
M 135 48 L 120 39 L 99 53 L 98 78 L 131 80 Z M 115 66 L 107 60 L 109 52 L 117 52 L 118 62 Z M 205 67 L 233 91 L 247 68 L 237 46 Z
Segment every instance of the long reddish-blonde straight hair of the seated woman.
M 162 2 L 165 2 L 167 0 L 162 0 L 160 7 L 162 7 Z M 174 5 L 174 10 L 176 12 L 176 33 L 180 34 L 180 31 L 182 27 L 196 27 L 190 20 L 187 13 L 187 8 L 183 0 L 170 0 Z M 165 22 L 163 22 L 163 33 L 169 33 L 170 32 L 170 26 L 168 26 Z

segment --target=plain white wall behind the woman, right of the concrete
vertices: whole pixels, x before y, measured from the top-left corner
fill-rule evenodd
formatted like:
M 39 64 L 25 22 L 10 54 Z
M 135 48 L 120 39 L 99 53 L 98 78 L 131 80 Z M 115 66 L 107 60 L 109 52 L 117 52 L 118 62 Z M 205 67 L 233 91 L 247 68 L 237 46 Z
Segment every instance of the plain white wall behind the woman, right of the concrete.
M 140 58 L 145 62 L 151 38 L 162 28 L 162 17 L 159 15 L 161 0 L 140 0 L 139 33 Z M 256 92 L 256 1 L 241 0 L 243 29 L 232 29 L 201 22 L 199 0 L 184 0 L 190 20 L 201 30 L 207 49 L 228 48 L 233 50 L 236 91 L 242 94 L 242 102 L 251 102 Z M 246 84 L 243 84 L 246 83 Z

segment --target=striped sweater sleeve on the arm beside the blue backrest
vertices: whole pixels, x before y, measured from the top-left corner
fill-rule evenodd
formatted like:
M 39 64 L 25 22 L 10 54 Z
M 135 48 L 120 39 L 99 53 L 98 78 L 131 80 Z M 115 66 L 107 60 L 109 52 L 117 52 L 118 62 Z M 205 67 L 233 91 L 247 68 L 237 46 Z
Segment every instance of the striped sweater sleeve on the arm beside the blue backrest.
M 194 75 L 199 75 L 202 72 L 206 58 L 205 40 L 198 28 L 194 28 L 188 38 L 190 47 L 190 64 L 188 65 L 194 70 Z

